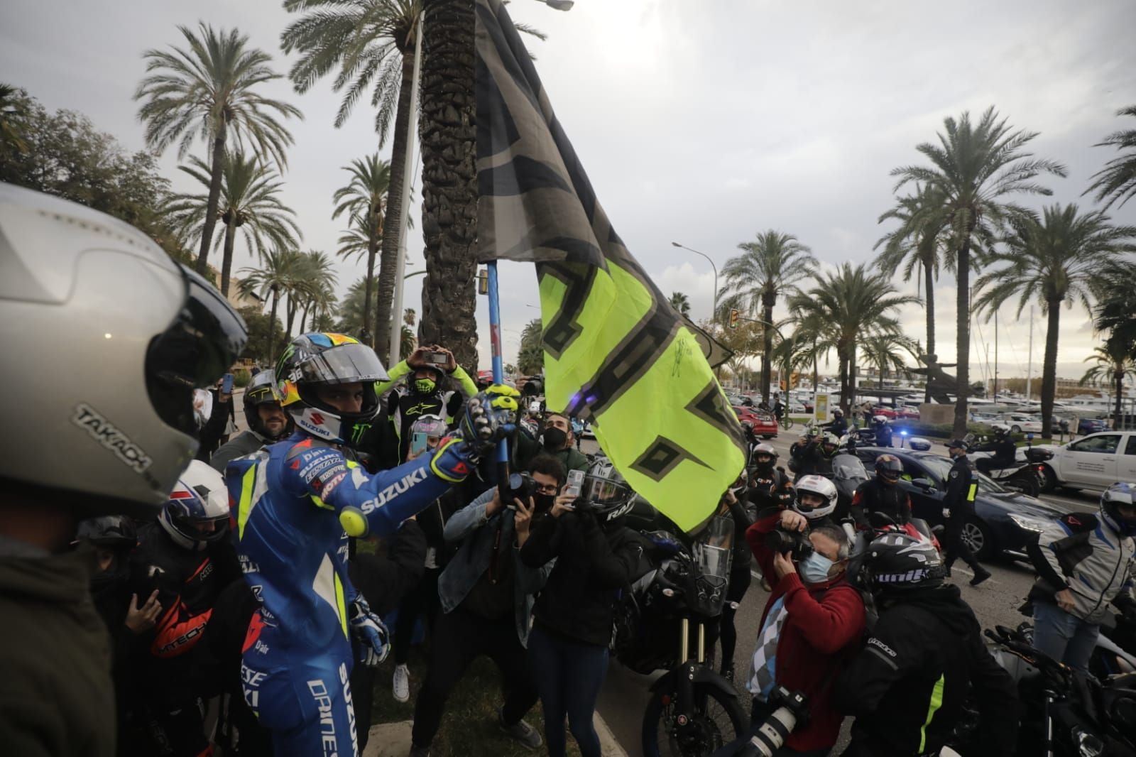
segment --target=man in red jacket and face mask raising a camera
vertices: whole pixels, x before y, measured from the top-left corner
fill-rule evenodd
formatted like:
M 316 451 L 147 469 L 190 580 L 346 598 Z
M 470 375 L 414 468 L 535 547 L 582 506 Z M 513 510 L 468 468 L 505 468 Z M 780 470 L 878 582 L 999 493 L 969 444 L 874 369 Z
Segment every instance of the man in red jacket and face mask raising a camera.
M 808 532 L 812 554 L 800 559 L 771 550 L 774 529 Z M 812 529 L 799 513 L 783 510 L 749 527 L 745 539 L 772 579 L 746 689 L 753 694 L 752 722 L 760 724 L 777 707 L 769 694 L 776 687 L 807 697 L 809 717 L 785 739 L 776 755 L 820 757 L 840 735 L 844 716 L 832 705 L 832 690 L 845 657 L 864 629 L 863 600 L 845 577 L 849 543 L 832 524 Z

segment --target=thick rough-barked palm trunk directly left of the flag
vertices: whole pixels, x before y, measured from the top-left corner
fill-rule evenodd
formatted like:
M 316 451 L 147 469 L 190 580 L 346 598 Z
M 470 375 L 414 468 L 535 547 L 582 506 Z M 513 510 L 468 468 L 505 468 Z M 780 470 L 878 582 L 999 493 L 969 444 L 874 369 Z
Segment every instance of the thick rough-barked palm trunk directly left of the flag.
M 423 343 L 477 367 L 474 0 L 426 0 L 421 70 Z M 395 150 L 398 152 L 398 150 Z

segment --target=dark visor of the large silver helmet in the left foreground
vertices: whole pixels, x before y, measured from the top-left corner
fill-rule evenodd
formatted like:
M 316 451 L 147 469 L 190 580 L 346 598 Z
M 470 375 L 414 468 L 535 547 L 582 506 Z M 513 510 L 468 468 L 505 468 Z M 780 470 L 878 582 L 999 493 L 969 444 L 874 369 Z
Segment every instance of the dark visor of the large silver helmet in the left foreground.
M 145 357 L 150 402 L 165 423 L 197 435 L 192 390 L 217 383 L 248 341 L 241 316 L 204 278 L 182 266 L 186 298 Z

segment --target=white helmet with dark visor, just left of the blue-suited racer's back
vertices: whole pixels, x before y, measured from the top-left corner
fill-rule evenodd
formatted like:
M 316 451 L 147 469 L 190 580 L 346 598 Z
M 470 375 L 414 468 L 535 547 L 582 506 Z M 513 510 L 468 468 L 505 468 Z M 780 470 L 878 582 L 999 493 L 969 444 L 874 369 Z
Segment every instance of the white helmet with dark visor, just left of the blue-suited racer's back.
M 174 543 L 202 550 L 228 535 L 225 480 L 208 463 L 191 460 L 158 514 Z

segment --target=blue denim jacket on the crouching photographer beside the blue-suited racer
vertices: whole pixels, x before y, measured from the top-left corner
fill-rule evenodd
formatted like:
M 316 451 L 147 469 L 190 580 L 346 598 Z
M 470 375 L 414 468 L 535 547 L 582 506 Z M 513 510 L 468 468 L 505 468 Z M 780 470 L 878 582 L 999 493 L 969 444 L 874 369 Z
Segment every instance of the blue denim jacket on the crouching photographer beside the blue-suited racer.
M 493 501 L 495 489 L 488 489 L 473 502 L 453 514 L 442 535 L 446 541 L 461 541 L 458 554 L 451 559 L 437 580 L 437 594 L 442 601 L 442 610 L 451 613 L 469 594 L 469 590 L 488 569 L 493 552 L 493 542 L 498 524 L 501 525 L 501 542 L 508 544 L 513 560 L 513 609 L 517 626 L 517 638 L 524 647 L 528 646 L 528 630 L 532 626 L 533 596 L 541 590 L 544 581 L 552 572 L 556 560 L 545 563 L 540 568 L 531 568 L 520 561 L 519 549 L 513 546 L 513 514 L 510 508 L 502 508 L 486 517 L 485 510 Z

